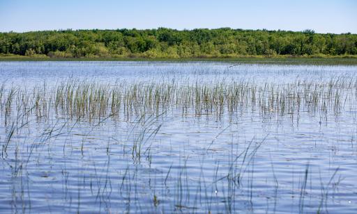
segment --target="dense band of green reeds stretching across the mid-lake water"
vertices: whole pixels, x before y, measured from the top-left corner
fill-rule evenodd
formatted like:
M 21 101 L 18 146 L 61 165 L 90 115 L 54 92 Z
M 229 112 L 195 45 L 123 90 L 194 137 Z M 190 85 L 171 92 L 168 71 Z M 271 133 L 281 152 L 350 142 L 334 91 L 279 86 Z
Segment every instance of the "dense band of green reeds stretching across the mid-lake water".
M 79 120 L 102 117 L 130 120 L 132 116 L 181 109 L 183 116 L 224 113 L 259 113 L 264 120 L 284 115 L 341 113 L 354 108 L 356 79 L 337 77 L 329 81 L 296 79 L 292 83 L 259 84 L 254 81 L 212 81 L 211 83 L 116 83 L 68 81 L 52 88 L 0 88 L 1 113 L 8 122 L 13 110 L 47 118 L 51 114 Z M 17 100 L 15 103 L 14 100 Z M 352 106 L 352 107 L 351 107 Z

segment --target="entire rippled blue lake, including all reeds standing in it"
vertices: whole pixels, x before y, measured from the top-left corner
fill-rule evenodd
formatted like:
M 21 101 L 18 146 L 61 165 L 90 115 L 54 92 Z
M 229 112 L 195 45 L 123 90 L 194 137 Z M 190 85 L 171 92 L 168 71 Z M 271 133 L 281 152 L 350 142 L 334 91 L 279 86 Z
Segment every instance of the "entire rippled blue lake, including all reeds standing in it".
M 356 213 L 356 72 L 0 62 L 0 212 Z

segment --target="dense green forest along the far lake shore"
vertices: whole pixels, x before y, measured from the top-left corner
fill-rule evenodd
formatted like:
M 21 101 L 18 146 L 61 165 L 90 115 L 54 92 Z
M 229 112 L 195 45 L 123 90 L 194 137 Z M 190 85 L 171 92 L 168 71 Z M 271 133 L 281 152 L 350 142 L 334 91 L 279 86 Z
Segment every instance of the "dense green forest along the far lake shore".
M 0 33 L 2 56 L 200 58 L 357 55 L 357 35 L 241 30 L 61 30 Z

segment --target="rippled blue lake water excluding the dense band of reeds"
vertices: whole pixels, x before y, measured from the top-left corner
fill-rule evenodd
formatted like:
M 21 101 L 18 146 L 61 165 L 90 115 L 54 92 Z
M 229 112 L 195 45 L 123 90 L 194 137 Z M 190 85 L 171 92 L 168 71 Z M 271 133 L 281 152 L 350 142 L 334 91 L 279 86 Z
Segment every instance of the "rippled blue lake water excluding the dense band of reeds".
M 286 85 L 354 79 L 357 72 L 356 66 L 231 65 L 1 62 L 0 84 L 5 94 L 69 80 Z M 169 108 L 96 122 L 54 113 L 31 117 L 10 140 L 20 119 L 5 124 L 1 113 L 0 212 L 356 213 L 357 107 L 356 100 L 344 103 L 339 113 L 271 120 L 250 108 L 220 118 Z

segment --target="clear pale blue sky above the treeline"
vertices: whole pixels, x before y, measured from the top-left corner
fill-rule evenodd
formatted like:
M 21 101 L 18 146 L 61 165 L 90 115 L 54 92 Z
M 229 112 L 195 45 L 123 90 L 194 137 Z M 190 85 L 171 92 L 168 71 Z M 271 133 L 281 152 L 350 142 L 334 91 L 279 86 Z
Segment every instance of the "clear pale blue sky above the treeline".
M 0 0 L 0 31 L 243 28 L 357 33 L 356 0 Z

